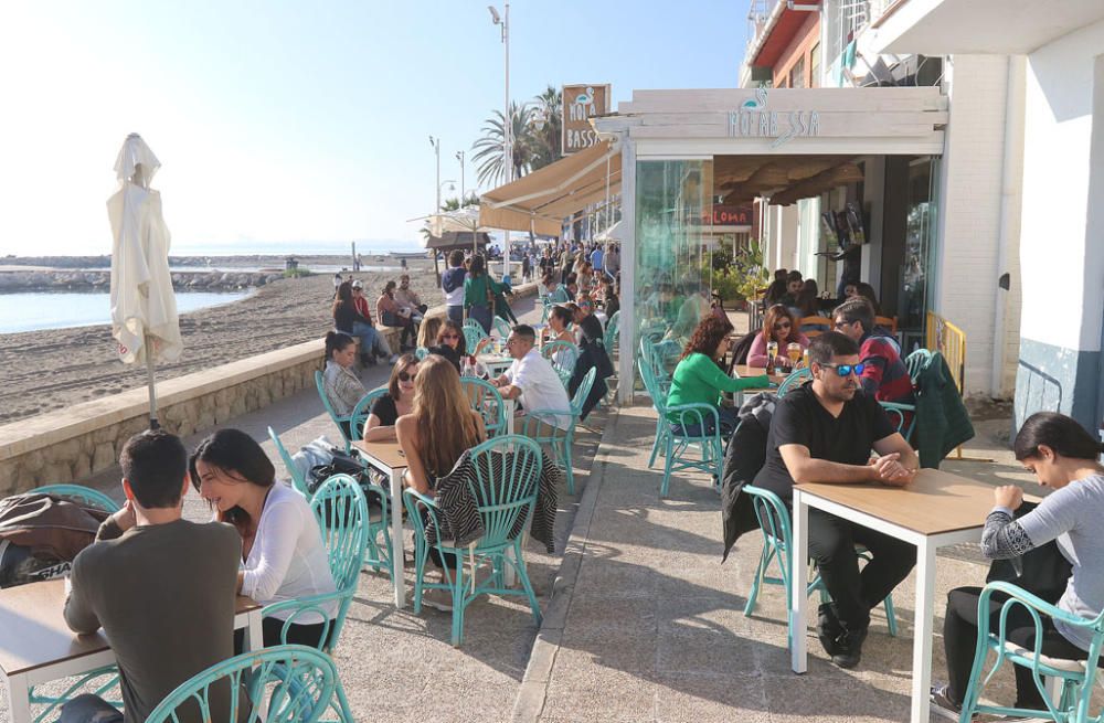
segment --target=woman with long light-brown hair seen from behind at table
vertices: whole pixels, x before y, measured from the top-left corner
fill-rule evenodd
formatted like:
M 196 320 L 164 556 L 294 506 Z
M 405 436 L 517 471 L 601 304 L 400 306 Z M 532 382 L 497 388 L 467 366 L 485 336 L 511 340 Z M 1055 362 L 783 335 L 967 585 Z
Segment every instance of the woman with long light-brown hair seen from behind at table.
M 395 422 L 395 433 L 407 462 L 403 481 L 427 497 L 433 497 L 437 479 L 452 471 L 465 451 L 487 438 L 482 417 L 471 408 L 456 368 L 437 354 L 418 364 L 414 407 Z M 427 520 L 428 512 L 423 510 L 423 523 Z M 429 559 L 440 568 L 447 563 L 456 570 L 455 555 L 443 559 L 436 547 L 429 547 Z M 424 599 L 426 605 L 446 608 L 452 596 L 431 589 Z

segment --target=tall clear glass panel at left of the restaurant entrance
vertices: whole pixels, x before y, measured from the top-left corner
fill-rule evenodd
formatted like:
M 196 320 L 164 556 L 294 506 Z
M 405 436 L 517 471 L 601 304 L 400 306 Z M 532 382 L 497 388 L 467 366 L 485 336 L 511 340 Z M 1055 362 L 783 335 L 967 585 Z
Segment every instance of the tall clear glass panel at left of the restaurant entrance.
M 712 160 L 637 161 L 638 338 L 682 345 L 709 313 L 712 192 Z

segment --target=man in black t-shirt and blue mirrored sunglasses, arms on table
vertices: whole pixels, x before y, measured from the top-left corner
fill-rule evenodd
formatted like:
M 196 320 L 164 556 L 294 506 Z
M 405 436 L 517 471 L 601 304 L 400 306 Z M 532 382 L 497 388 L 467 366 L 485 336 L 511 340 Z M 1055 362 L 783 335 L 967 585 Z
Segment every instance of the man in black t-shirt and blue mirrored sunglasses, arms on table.
M 809 347 L 813 381 L 778 400 L 767 435 L 766 464 L 755 486 L 787 502 L 794 485 L 910 483 L 920 461 L 873 395 L 859 385 L 859 345 L 834 331 Z M 870 460 L 871 448 L 880 455 Z M 870 552 L 859 572 L 854 544 Z M 913 545 L 820 510 L 809 510 L 809 556 L 831 597 L 820 606 L 817 632 L 840 668 L 858 664 L 870 610 L 907 576 Z M 805 581 L 795 581 L 804 585 Z

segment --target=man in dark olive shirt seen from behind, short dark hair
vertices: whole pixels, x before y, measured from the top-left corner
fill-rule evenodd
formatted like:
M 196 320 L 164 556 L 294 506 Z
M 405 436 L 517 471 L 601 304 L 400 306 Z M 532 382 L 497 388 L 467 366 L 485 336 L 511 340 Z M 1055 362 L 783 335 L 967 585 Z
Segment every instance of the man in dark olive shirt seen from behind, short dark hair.
M 103 626 L 119 663 L 124 713 L 78 695 L 61 723 L 140 723 L 179 684 L 234 655 L 237 531 L 181 519 L 189 479 L 179 437 L 137 434 L 119 464 L 126 504 L 73 561 L 65 621 L 78 634 Z M 211 720 L 225 721 L 229 689 L 219 693 Z M 198 709 L 190 713 L 181 720 L 202 720 Z

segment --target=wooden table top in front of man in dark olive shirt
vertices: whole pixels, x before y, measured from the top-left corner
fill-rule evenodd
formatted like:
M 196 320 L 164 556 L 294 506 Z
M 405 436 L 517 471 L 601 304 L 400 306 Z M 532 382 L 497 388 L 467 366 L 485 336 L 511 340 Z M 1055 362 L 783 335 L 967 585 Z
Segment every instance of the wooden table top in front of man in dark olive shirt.
M 261 605 L 238 595 L 235 613 Z M 47 580 L 0 589 L 0 670 L 6 676 L 109 649 L 103 629 L 77 635 L 65 624 L 65 581 Z

